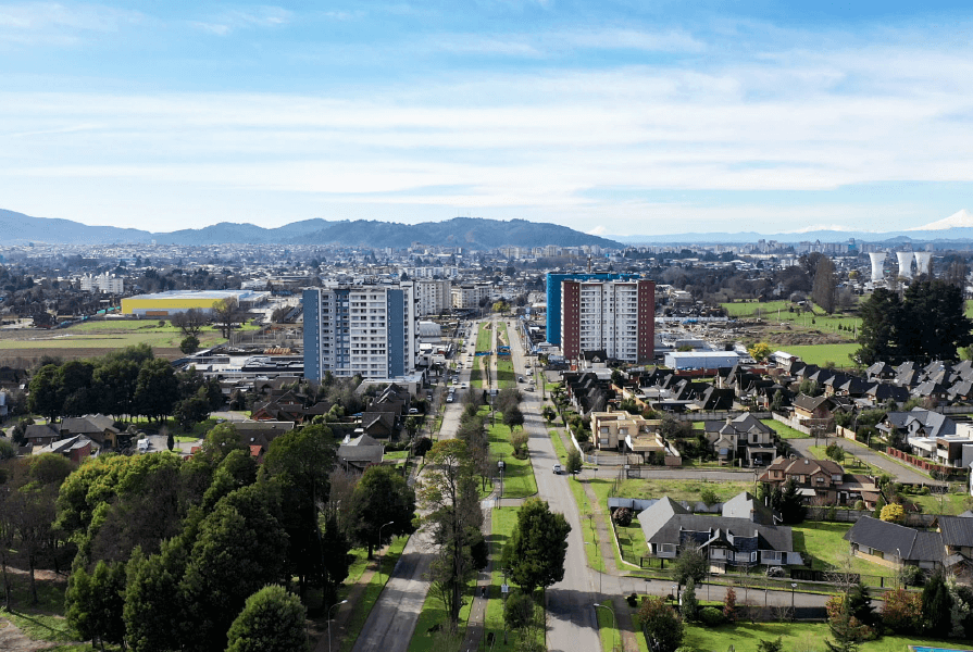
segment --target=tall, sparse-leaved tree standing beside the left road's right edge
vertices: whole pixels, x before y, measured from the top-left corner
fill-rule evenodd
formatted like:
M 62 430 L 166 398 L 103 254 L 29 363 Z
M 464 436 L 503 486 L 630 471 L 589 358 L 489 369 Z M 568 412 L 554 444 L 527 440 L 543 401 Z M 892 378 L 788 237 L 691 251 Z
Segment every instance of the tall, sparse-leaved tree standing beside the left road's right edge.
M 446 607 L 449 627 L 454 629 L 463 590 L 475 569 L 470 547 L 482 537 L 483 512 L 465 442 L 460 439 L 437 441 L 429 451 L 428 461 L 426 468 L 431 471 L 419 493 L 425 514 L 421 524 L 438 548 L 431 576 Z

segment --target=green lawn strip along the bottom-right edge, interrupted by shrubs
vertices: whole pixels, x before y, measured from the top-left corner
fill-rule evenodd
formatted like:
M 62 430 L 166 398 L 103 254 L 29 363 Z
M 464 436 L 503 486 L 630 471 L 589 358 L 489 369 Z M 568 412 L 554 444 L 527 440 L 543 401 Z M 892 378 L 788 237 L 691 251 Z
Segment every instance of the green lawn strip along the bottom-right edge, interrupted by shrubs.
M 723 625 L 722 627 L 703 627 L 688 625 L 683 645 L 697 650 L 723 652 L 733 645 L 735 652 L 757 652 L 761 640 L 774 640 L 781 637 L 784 650 L 824 650 L 824 639 L 831 635 L 825 623 L 757 623 L 750 625 Z M 644 637 L 640 637 L 644 638 Z M 931 639 L 926 637 L 884 636 L 875 641 L 868 641 L 859 647 L 860 652 L 905 652 L 907 645 L 939 644 L 946 649 L 965 645 L 962 641 Z

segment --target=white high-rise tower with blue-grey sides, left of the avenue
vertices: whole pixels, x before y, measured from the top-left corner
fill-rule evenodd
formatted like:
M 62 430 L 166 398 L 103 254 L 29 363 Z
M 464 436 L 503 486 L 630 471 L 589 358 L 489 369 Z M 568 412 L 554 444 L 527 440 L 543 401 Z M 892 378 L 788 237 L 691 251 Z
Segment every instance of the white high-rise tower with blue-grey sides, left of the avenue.
M 412 281 L 305 289 L 304 377 L 400 378 L 415 371 Z

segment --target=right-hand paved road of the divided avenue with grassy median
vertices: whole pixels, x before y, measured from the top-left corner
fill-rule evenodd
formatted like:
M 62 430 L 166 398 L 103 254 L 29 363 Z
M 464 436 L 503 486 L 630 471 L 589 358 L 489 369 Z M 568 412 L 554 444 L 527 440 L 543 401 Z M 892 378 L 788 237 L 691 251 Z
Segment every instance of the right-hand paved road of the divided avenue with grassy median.
M 521 338 L 514 328 L 508 327 L 514 369 L 524 373 L 524 355 Z M 537 494 L 546 500 L 552 512 L 561 512 L 571 525 L 567 535 L 567 553 L 564 561 L 564 579 L 547 590 L 548 641 L 551 651 L 600 650 L 595 620 L 594 604 L 598 602 L 595 572 L 588 568 L 582 541 L 582 524 L 574 496 L 567 488 L 567 476 L 553 475 L 551 467 L 558 462 L 547 426 L 540 416 L 540 392 L 524 392 L 522 404 L 524 429 L 531 439 L 528 448 L 537 479 Z

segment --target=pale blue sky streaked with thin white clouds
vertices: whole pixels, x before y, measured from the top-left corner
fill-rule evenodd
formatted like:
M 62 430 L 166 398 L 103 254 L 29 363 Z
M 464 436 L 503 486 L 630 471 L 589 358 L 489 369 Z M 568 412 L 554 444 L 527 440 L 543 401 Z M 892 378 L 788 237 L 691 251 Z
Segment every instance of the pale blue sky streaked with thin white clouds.
M 0 208 L 915 228 L 973 210 L 971 27 L 969 1 L 0 2 Z

